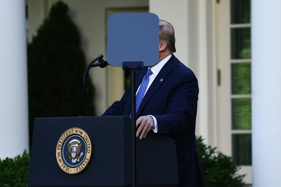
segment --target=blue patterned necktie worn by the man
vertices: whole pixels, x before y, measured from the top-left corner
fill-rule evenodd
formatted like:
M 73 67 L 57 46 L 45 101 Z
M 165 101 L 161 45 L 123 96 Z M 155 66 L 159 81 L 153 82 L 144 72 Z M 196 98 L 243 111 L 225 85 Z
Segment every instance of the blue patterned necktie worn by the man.
M 138 112 L 138 108 L 140 107 L 140 103 L 143 100 L 143 96 L 145 93 L 145 90 L 147 88 L 148 82 L 149 82 L 149 76 L 152 75 L 153 72 L 151 71 L 151 68 L 149 68 L 143 77 L 143 80 L 140 84 L 140 89 L 138 90 L 138 93 L 136 95 L 136 113 Z M 130 112 L 130 118 L 131 118 L 132 112 Z

